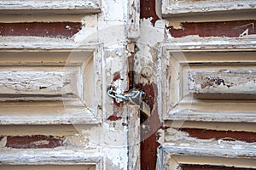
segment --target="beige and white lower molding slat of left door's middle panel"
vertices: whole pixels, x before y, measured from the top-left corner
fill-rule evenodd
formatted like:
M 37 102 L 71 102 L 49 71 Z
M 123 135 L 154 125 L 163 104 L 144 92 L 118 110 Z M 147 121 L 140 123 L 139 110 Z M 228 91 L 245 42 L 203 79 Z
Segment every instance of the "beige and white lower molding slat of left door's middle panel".
M 2 125 L 97 124 L 100 121 L 83 103 L 73 101 L 27 101 L 0 103 Z

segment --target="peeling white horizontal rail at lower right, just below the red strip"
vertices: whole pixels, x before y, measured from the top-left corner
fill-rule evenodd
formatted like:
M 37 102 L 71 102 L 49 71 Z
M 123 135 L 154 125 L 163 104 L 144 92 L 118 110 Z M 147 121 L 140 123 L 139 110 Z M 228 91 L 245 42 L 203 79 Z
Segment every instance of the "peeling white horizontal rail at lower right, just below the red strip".
M 196 139 L 188 133 L 169 128 L 165 136 L 164 150 L 171 155 L 219 156 L 229 158 L 255 159 L 255 143 L 236 139 Z M 229 139 L 229 138 L 228 138 Z

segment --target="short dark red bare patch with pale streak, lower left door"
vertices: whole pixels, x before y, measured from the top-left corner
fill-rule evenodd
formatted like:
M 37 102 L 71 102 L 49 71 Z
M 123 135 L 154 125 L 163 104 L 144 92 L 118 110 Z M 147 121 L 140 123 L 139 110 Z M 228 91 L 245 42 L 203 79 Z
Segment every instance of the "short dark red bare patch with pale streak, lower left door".
M 5 147 L 16 149 L 55 148 L 64 146 L 63 137 L 32 135 L 7 136 Z

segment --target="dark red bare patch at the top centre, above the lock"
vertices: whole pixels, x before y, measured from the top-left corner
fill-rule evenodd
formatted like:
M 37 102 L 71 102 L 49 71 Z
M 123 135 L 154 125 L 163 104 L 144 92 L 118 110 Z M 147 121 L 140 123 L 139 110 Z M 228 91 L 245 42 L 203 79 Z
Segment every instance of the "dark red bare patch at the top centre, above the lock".
M 160 20 L 155 11 L 155 0 L 140 0 L 140 18 L 151 18 L 151 23 L 154 26 L 157 20 Z

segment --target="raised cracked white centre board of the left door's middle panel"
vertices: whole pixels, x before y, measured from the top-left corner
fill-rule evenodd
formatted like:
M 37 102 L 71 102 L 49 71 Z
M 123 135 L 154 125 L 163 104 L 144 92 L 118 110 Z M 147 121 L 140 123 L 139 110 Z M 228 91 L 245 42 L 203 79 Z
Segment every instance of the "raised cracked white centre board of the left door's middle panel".
M 5 70 L 6 69 L 6 70 Z M 3 95 L 77 95 L 79 71 L 63 71 L 61 68 L 8 68 L 0 69 L 0 97 Z M 62 70 L 62 71 L 61 71 Z

